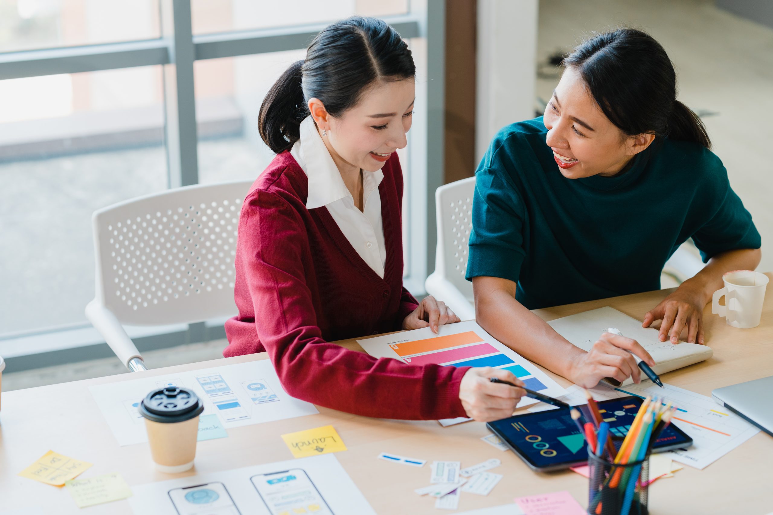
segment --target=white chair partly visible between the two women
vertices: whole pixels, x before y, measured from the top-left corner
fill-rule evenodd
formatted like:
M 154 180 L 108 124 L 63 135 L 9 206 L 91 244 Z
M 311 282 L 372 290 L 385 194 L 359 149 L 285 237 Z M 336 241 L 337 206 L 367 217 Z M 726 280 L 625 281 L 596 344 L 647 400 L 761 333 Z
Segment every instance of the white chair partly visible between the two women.
M 472 283 L 465 279 L 473 191 L 474 177 L 451 182 L 435 191 L 438 246 L 435 270 L 424 281 L 427 293 L 448 304 L 461 320 L 475 318 Z

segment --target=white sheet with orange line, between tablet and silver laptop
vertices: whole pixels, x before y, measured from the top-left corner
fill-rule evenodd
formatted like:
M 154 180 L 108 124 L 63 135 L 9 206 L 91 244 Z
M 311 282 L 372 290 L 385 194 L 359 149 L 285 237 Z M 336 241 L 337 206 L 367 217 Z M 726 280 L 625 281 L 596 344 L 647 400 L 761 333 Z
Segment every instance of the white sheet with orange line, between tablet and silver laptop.
M 684 451 L 675 450 L 670 451 L 670 453 L 674 461 L 693 466 L 696 469 L 705 469 L 760 432 L 756 426 L 746 422 L 724 406 L 718 405 L 706 395 L 699 395 L 667 383 L 664 383 L 663 387 L 653 385 L 652 381 L 642 381 L 638 385 L 627 385 L 619 388 L 601 384 L 596 388 L 591 388 L 591 393 L 597 401 L 627 397 L 628 395 L 638 395 L 639 397 L 658 395 L 665 398 L 666 401 L 672 401 L 679 410 L 674 414 L 671 423 L 690 435 L 690 438 L 693 439 L 693 446 Z M 564 396 L 563 400 L 573 406 L 587 403 L 582 388 L 577 385 L 567 388 L 567 395 Z M 553 408 L 553 406 L 542 402 L 528 408 L 528 411 L 539 412 Z

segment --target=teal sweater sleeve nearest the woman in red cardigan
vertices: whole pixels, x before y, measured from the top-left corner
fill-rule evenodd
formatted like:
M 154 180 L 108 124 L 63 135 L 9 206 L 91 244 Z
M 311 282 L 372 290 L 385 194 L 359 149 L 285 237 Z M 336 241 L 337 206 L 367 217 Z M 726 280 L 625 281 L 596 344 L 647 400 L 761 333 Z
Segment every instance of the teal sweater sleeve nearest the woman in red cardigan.
M 518 282 L 526 256 L 526 208 L 500 161 L 475 172 L 467 280 L 491 276 Z

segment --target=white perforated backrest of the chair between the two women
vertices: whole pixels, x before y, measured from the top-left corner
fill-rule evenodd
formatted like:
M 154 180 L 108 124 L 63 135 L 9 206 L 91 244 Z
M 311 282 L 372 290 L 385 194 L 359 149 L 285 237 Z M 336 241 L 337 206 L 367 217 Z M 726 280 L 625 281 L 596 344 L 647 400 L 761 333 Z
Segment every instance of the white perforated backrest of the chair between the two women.
M 435 192 L 438 248 L 435 273 L 472 300 L 472 283 L 465 279 L 472 232 L 472 195 L 475 177 L 443 185 Z

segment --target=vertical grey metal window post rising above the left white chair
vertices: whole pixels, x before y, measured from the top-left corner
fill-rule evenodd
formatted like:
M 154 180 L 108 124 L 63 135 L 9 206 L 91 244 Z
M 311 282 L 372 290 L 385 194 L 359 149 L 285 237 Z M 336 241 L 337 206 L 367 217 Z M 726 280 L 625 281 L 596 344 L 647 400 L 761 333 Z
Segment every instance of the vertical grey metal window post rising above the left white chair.
M 163 0 L 162 36 L 169 47 L 164 66 L 165 143 L 169 187 L 199 183 L 196 93 L 193 88 L 191 6 L 188 0 Z

